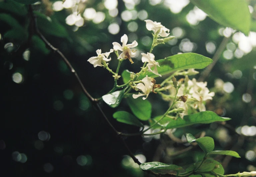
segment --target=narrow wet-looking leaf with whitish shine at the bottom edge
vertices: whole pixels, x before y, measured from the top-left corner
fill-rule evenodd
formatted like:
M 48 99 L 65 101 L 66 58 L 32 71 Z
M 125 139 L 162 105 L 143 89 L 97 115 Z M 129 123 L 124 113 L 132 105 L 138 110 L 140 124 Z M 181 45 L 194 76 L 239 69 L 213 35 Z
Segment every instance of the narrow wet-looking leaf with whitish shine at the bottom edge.
M 173 171 L 181 171 L 182 167 L 177 165 L 167 165 L 161 162 L 147 162 L 139 165 L 142 170 L 173 170 Z

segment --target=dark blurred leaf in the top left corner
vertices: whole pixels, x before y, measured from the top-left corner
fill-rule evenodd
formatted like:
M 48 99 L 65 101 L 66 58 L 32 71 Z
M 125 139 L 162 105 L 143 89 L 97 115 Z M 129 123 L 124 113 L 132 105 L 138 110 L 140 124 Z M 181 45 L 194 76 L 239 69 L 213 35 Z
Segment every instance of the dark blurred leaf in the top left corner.
M 19 16 L 25 16 L 28 13 L 27 8 L 24 4 L 17 3 L 13 0 L 1 1 L 0 10 Z

